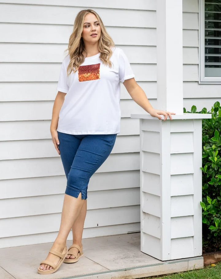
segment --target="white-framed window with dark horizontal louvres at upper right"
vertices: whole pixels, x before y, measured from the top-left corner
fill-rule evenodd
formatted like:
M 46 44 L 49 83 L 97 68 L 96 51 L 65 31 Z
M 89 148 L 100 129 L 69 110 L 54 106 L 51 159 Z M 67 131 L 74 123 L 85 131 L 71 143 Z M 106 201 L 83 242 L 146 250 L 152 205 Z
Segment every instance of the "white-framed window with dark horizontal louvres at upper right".
M 200 0 L 200 82 L 221 83 L 221 0 Z

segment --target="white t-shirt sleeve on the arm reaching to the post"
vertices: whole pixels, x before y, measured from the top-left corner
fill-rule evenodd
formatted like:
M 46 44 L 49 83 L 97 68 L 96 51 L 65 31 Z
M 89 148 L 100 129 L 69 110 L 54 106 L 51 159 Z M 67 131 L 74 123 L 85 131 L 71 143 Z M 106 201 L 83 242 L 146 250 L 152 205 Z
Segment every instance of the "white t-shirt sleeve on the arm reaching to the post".
M 125 79 L 134 78 L 134 73 L 131 69 L 129 60 L 122 49 L 120 50 L 119 55 L 119 77 L 121 82 L 124 82 Z

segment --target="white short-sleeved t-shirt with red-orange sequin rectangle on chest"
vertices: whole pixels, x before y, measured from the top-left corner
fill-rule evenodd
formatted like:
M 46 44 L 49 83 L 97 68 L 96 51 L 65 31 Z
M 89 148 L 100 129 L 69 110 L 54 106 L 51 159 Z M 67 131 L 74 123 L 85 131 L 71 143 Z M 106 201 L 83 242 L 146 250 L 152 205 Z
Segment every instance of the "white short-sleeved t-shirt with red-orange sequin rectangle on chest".
M 86 57 L 77 72 L 67 76 L 69 55 L 61 66 L 57 90 L 67 93 L 57 130 L 65 134 L 118 134 L 120 132 L 120 81 L 134 77 L 120 48 L 114 48 L 111 68 L 100 53 Z

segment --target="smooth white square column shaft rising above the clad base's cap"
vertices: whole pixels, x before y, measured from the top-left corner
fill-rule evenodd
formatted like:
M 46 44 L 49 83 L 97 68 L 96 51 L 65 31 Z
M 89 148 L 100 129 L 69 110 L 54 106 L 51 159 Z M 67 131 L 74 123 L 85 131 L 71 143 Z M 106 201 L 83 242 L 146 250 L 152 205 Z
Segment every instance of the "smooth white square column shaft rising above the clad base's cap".
M 183 114 L 182 0 L 157 0 L 157 108 Z

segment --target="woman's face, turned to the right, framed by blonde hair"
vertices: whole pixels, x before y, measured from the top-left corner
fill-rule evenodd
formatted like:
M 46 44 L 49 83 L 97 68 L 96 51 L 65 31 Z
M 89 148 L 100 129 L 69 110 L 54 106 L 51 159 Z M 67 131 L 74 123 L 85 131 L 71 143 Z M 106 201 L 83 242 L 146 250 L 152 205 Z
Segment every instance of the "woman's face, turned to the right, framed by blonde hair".
M 86 14 L 81 33 L 84 43 L 95 44 L 99 41 L 100 35 L 101 28 L 97 17 L 91 13 Z

